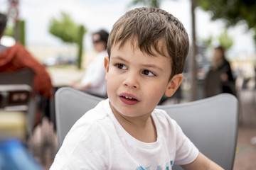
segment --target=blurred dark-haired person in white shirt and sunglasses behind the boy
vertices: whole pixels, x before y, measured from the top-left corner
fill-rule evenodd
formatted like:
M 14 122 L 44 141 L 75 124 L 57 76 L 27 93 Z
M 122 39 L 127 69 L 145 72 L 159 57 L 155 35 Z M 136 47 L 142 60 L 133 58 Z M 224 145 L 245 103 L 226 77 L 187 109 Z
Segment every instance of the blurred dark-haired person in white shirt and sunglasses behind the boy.
M 79 82 L 70 84 L 74 89 L 79 89 L 95 96 L 107 96 L 107 84 L 105 81 L 104 58 L 107 57 L 107 39 L 109 33 L 99 30 L 92 34 L 92 44 L 98 55 L 87 66 L 85 75 Z

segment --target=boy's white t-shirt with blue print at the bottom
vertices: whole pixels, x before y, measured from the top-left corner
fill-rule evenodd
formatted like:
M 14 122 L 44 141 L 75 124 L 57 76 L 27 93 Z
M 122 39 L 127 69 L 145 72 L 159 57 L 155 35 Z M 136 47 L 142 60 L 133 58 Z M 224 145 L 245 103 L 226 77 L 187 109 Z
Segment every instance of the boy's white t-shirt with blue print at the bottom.
M 173 164 L 189 164 L 198 149 L 165 111 L 151 116 L 157 140 L 141 142 L 122 128 L 111 111 L 109 99 L 80 118 L 56 154 L 50 170 L 57 169 L 171 169 Z

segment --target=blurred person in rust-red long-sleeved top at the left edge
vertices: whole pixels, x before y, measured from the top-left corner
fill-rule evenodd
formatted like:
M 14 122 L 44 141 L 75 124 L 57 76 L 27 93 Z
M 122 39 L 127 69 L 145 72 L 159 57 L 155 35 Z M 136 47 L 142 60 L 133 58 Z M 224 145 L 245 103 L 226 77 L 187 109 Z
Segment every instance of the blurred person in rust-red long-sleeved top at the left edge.
M 6 15 L 0 13 L 0 40 L 4 35 L 6 23 Z M 36 60 L 28 50 L 18 42 L 11 47 L 6 47 L 0 44 L 0 72 L 16 72 L 17 70 L 24 68 L 33 70 L 35 73 L 33 85 L 36 93 L 42 98 L 46 98 L 46 103 L 49 103 L 48 101 L 53 98 L 53 85 L 50 75 L 43 64 L 38 62 L 38 60 Z M 46 115 L 47 114 L 49 113 L 46 113 Z M 38 115 L 36 117 L 38 117 Z

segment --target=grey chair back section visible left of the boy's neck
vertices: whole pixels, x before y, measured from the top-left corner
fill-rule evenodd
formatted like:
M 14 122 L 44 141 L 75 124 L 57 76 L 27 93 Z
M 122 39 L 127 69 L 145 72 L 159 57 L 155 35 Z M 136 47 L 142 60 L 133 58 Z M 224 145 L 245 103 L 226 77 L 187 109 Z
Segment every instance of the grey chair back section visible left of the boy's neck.
M 103 98 L 85 94 L 70 87 L 62 87 L 56 91 L 55 119 L 59 147 L 74 123 L 102 100 Z

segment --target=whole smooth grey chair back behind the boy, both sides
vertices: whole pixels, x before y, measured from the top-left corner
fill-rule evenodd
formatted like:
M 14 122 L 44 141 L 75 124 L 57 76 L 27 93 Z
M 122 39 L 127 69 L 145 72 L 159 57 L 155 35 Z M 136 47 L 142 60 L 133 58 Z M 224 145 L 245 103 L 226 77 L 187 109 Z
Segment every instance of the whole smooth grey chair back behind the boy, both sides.
M 84 113 L 102 98 L 64 87 L 55 94 L 59 147 L 65 135 Z M 238 134 L 238 101 L 219 94 L 189 103 L 157 106 L 164 109 L 183 129 L 198 149 L 224 169 L 233 169 Z M 174 166 L 181 169 L 181 166 Z

